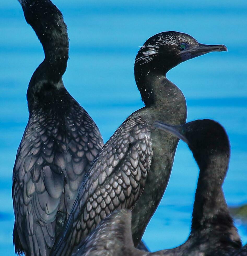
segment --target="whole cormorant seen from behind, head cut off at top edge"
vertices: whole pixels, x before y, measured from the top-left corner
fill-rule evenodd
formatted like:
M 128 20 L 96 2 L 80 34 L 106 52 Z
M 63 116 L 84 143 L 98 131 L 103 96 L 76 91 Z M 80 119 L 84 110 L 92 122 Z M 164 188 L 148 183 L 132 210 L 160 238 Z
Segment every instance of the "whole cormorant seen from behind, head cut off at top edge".
M 45 256 L 103 140 L 92 118 L 63 85 L 69 43 L 61 12 L 50 0 L 19 2 L 45 59 L 27 90 L 30 115 L 13 170 L 13 241 L 18 254 Z

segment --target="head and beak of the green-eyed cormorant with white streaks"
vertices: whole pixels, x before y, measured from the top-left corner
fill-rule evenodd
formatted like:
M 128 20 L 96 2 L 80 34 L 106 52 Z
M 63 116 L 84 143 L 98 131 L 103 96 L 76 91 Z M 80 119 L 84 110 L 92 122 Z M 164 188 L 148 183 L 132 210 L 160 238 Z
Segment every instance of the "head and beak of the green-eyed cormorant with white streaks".
M 150 37 L 137 53 L 135 78 L 153 71 L 165 75 L 186 60 L 213 51 L 227 51 L 225 45 L 200 44 L 188 34 L 168 31 Z M 143 73 L 143 74 L 142 74 Z

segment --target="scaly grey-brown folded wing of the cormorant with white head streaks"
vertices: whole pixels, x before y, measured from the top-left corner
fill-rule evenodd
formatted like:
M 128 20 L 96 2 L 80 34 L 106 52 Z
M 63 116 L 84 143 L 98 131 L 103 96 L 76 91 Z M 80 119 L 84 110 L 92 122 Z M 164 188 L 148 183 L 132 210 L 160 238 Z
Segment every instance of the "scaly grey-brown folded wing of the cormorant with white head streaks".
M 85 176 L 51 255 L 70 255 L 109 213 L 133 208 L 151 165 L 150 133 L 150 126 L 134 114 L 115 131 Z

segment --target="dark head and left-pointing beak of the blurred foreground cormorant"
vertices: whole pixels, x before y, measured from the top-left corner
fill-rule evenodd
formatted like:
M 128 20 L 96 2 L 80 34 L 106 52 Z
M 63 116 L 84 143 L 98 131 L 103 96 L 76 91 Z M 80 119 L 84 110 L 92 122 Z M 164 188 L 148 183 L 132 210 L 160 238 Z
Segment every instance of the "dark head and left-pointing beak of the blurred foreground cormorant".
M 219 162 L 223 168 L 230 158 L 230 143 L 222 125 L 210 119 L 195 120 L 174 126 L 159 121 L 154 127 L 164 130 L 188 144 L 200 168 Z M 220 160 L 219 160 L 220 159 Z M 225 168 L 223 168 L 226 171 Z

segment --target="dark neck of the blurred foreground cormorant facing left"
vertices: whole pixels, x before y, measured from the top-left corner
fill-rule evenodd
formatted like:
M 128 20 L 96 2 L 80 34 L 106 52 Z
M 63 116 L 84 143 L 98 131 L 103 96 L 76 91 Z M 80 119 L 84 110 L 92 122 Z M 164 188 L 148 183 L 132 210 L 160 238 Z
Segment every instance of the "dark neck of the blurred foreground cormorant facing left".
M 212 156 L 201 163 L 192 214 L 191 233 L 222 233 L 234 227 L 222 184 L 228 168 L 226 155 Z M 221 225 L 219 225 L 221 223 Z

